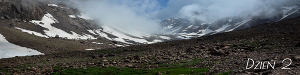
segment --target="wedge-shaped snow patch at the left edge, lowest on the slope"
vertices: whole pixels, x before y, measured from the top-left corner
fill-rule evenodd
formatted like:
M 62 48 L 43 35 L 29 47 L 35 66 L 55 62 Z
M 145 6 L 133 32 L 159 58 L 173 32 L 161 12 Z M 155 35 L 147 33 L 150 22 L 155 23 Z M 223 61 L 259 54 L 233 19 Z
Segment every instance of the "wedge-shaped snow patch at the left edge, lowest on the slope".
M 9 43 L 5 37 L 0 34 L 0 58 L 14 57 L 14 56 L 26 56 L 43 54 L 34 49 L 21 47 L 12 43 Z

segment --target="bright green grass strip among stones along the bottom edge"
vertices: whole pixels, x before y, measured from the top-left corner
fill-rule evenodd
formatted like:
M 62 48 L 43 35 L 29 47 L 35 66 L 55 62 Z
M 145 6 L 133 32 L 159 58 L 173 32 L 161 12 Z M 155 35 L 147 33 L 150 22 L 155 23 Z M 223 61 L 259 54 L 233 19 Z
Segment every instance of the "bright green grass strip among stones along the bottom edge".
M 52 73 L 52 75 L 63 75 L 63 74 L 143 74 L 152 75 L 156 73 L 163 73 L 166 75 L 177 75 L 177 74 L 201 74 L 201 72 L 207 71 L 207 68 L 187 68 L 187 67 L 160 67 L 154 69 L 132 69 L 128 67 L 87 67 L 77 69 L 67 69 L 61 72 Z

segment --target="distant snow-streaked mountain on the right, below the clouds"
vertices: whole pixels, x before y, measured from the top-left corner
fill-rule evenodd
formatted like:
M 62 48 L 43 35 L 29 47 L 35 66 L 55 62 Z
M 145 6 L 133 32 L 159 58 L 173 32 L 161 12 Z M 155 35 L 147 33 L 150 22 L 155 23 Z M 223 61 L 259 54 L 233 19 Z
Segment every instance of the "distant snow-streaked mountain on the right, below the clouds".
M 201 20 L 189 21 L 187 17 L 174 17 L 162 20 L 160 24 L 167 29 L 164 34 L 175 34 L 177 38 L 188 39 L 292 18 L 300 15 L 299 9 L 300 5 L 281 6 L 273 11 L 276 13 L 261 12 L 258 15 L 230 16 L 206 22 Z

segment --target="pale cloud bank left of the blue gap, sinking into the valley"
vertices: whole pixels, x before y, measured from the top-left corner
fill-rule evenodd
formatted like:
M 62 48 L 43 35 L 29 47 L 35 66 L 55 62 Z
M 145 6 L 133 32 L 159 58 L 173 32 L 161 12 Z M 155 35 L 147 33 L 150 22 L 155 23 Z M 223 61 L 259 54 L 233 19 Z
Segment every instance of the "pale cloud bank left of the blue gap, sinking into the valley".
M 160 6 L 156 0 L 86 0 L 80 3 L 77 8 L 102 25 L 126 33 L 160 32 L 160 20 L 155 17 Z

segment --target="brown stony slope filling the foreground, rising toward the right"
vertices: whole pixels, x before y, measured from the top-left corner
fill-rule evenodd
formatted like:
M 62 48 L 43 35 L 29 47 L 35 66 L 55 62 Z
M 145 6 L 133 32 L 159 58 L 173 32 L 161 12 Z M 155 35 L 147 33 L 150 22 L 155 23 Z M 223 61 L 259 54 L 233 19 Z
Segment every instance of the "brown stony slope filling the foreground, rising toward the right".
M 208 68 L 190 74 L 300 74 L 300 17 L 187 40 L 0 59 L 0 74 L 63 74 L 91 67 Z M 274 69 L 245 69 L 247 58 Z M 290 69 L 280 69 L 292 59 Z M 272 61 L 271 61 L 272 60 Z M 81 69 L 81 70 L 80 70 Z M 71 70 L 72 71 L 72 70 Z M 69 72 L 70 73 L 70 72 Z M 155 72 L 167 74 L 168 71 Z M 222 73 L 222 74 L 224 74 Z M 73 73 L 74 74 L 74 73 Z

